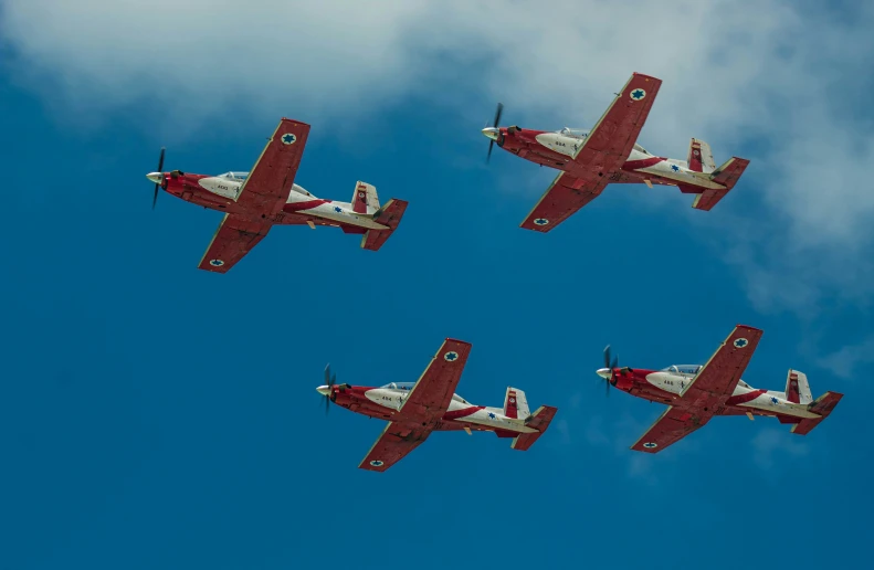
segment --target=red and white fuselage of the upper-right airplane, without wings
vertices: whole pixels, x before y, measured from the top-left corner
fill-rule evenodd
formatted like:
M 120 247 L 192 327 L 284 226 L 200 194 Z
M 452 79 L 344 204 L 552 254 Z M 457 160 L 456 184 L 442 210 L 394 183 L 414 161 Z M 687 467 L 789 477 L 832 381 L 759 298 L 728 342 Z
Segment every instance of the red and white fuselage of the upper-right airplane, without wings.
M 561 129 L 559 131 L 530 130 L 518 127 L 485 128 L 483 134 L 494 139 L 504 150 L 540 166 L 568 173 L 591 176 L 592 168 L 581 167 L 573 156 L 589 136 L 586 129 Z M 634 145 L 622 169 L 604 172 L 610 183 L 645 183 L 677 186 L 681 191 L 701 192 L 702 188 L 722 189 L 724 186 L 710 180 L 708 175 L 689 170 L 688 162 L 673 158 L 656 157 L 640 145 Z M 686 188 L 684 188 L 686 187 Z M 686 190 L 687 189 L 687 190 Z

